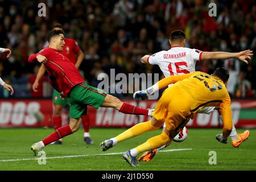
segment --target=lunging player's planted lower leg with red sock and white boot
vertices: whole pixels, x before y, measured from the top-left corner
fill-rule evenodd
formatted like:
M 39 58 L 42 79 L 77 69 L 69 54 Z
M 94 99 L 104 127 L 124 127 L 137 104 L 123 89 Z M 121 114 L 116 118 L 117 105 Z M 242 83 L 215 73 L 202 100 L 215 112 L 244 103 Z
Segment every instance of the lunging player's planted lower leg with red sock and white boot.
M 77 130 L 79 130 L 81 121 L 82 121 L 81 118 L 79 118 L 79 119 L 71 118 L 69 121 L 69 125 L 60 127 L 54 133 L 49 135 L 47 138 L 44 138 L 40 142 L 34 143 L 31 146 L 31 150 L 34 152 L 35 155 L 38 155 L 38 152 L 42 151 L 43 148 L 45 146 L 47 146 L 48 144 L 55 142 L 56 140 L 59 140 L 61 138 L 64 138 L 68 135 L 71 135 L 74 132 L 76 132 Z

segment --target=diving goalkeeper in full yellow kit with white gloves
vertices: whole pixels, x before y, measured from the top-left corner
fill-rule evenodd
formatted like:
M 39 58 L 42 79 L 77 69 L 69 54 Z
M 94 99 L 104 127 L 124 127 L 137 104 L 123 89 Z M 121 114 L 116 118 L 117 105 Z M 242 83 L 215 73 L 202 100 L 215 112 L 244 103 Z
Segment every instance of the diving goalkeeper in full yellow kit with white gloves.
M 100 144 L 102 151 L 106 151 L 117 143 L 136 137 L 146 131 L 159 129 L 166 122 L 166 129 L 162 134 L 148 139 L 145 143 L 123 154 L 123 159 L 126 162 L 133 167 L 137 167 L 136 156 L 138 154 L 170 143 L 189 119 L 193 119 L 197 111 L 207 106 L 220 108 L 224 125 L 220 142 L 228 143 L 228 137 L 232 131 L 230 97 L 225 86 L 228 78 L 229 72 L 227 69 L 217 68 L 211 76 L 203 72 L 194 72 L 160 80 L 148 88 L 146 93 L 153 94 L 156 90 L 169 84 L 176 84 L 163 92 L 162 97 L 156 104 L 153 118 L 150 121 L 138 123 L 117 137 L 105 140 Z

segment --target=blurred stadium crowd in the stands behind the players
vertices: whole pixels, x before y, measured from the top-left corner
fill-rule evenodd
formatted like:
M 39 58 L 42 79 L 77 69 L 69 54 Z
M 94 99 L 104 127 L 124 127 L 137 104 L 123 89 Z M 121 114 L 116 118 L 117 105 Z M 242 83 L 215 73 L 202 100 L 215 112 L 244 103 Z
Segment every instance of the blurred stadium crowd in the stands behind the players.
M 38 4 L 46 4 L 46 17 L 38 16 Z M 213 2 L 213 1 L 211 1 Z M 40 51 L 52 24 L 63 24 L 65 37 L 73 38 L 85 53 L 80 66 L 86 81 L 97 86 L 99 73 L 159 73 L 157 66 L 140 63 L 142 56 L 170 48 L 170 32 L 183 30 L 185 47 L 201 51 L 256 52 L 256 5 L 254 0 L 214 1 L 217 16 L 208 15 L 210 1 L 193 0 L 0 0 L 0 47 L 10 48 L 9 59 L 0 58 L 0 77 L 13 85 L 10 96 L 0 89 L 0 97 L 51 97 L 51 86 L 43 82 L 32 93 L 31 80 L 39 64 L 27 63 Z M 228 90 L 234 98 L 256 96 L 256 58 L 249 65 L 238 60 L 197 63 L 196 71 L 212 73 L 216 67 L 229 69 Z M 47 79 L 44 78 L 44 81 Z M 127 96 L 126 94 L 118 95 Z

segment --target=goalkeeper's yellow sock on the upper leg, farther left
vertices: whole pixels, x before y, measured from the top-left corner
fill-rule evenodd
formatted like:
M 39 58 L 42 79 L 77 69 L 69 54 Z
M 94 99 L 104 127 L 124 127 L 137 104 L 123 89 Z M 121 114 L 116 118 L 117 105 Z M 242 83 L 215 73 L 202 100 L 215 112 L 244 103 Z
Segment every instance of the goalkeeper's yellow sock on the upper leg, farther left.
M 154 127 L 150 121 L 142 122 L 119 134 L 117 137 L 115 137 L 115 139 L 117 142 L 122 142 L 123 140 L 133 138 L 142 133 L 145 133 L 146 131 L 153 131 L 156 129 L 158 129 L 158 127 Z

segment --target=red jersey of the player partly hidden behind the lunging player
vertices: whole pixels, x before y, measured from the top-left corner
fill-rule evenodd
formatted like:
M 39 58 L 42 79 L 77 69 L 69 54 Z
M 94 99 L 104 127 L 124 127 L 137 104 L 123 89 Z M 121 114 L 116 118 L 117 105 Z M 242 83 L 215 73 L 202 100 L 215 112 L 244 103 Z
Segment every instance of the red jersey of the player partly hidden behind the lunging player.
M 73 39 L 65 38 L 65 45 L 63 47 L 63 50 L 60 52 L 62 55 L 68 57 L 69 60 L 73 64 L 76 64 L 76 55 L 80 52 L 80 48 L 77 44 L 77 42 Z

